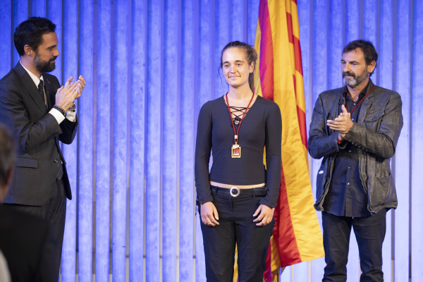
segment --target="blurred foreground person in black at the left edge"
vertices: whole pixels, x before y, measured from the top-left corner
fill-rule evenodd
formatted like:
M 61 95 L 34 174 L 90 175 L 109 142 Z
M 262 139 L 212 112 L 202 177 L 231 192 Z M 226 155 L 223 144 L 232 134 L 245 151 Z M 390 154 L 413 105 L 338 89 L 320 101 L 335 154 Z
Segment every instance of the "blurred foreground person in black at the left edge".
M 0 203 L 11 183 L 15 159 L 13 138 L 0 125 Z M 12 281 L 57 281 L 51 271 L 57 242 L 51 236 L 48 221 L 4 204 L 0 204 L 0 219 L 0 251 L 6 258 Z

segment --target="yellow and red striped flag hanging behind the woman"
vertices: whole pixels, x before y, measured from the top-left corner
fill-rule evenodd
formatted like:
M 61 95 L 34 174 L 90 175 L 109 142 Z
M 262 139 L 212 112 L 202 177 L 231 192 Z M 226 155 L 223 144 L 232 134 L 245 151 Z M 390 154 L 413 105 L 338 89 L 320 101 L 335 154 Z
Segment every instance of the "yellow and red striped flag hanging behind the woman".
M 276 102 L 282 114 L 281 190 L 264 273 L 270 282 L 280 267 L 324 257 L 308 172 L 296 0 L 260 0 L 255 49 L 256 93 Z

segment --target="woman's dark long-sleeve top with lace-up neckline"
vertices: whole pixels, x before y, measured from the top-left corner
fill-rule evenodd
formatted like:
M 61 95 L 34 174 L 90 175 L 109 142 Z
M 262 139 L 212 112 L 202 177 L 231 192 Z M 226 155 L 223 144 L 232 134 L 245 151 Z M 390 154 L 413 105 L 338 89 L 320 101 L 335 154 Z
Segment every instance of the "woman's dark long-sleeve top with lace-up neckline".
M 278 105 L 260 96 L 245 114 L 238 133 L 240 159 L 231 157 L 233 126 L 224 96 L 204 104 L 198 116 L 195 185 L 201 204 L 212 202 L 210 181 L 233 185 L 266 183 L 260 204 L 276 207 L 281 183 L 282 118 Z M 266 168 L 263 164 L 266 148 Z M 213 164 L 209 173 L 210 152 Z

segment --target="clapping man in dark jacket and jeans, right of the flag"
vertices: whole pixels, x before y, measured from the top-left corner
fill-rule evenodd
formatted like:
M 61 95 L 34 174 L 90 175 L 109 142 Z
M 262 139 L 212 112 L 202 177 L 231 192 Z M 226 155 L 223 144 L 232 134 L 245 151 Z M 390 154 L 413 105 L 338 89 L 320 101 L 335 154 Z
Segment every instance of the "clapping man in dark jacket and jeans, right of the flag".
M 377 57 L 371 42 L 350 42 L 341 60 L 345 87 L 322 92 L 314 106 L 309 154 L 324 157 L 314 204 L 322 212 L 323 281 L 346 281 L 352 227 L 360 281 L 384 281 L 386 212 L 398 204 L 390 161 L 403 116 L 400 95 L 370 80 Z

